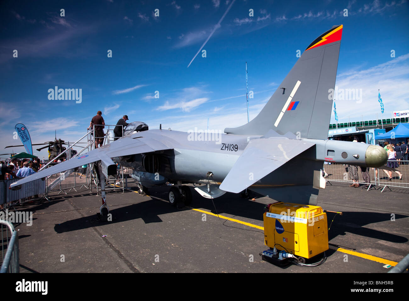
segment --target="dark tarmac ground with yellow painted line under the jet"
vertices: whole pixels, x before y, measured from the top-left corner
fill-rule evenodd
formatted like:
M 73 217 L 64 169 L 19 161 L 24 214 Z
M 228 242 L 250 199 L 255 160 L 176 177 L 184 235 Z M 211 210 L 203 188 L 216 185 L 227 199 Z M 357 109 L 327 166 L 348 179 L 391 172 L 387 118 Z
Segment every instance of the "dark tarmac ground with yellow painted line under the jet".
M 277 267 L 261 259 L 259 253 L 268 249 L 263 213 L 271 199 L 226 193 L 213 199 L 213 206 L 191 187 L 190 207 L 175 208 L 164 186 L 151 188 L 149 196 L 135 187 L 108 192 L 110 222 L 96 218 L 101 196 L 95 189 L 54 193 L 49 202 L 15 207 L 33 213 L 31 226 L 14 225 L 20 273 L 388 272 L 385 265 L 396 265 L 409 253 L 409 190 L 330 184 L 320 190 L 318 205 L 343 215 L 327 212 L 329 250 L 317 267 Z

